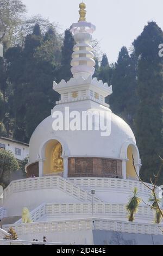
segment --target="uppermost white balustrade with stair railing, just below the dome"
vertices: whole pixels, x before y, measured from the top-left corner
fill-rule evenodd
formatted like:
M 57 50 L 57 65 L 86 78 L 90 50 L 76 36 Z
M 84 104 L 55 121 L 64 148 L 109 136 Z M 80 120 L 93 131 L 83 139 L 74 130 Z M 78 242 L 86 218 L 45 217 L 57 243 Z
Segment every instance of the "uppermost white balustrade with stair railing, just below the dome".
M 151 185 L 149 185 L 151 186 Z M 139 193 L 149 194 L 149 190 L 141 182 L 136 180 L 123 180 L 111 178 L 70 178 L 67 180 L 60 176 L 45 176 L 41 178 L 30 178 L 12 181 L 4 190 L 3 197 L 5 200 L 12 194 L 22 191 L 43 190 L 47 188 L 58 188 L 79 199 L 80 201 L 92 202 L 92 195 L 84 189 L 91 188 L 109 188 L 111 190 L 131 191 L 137 187 Z M 98 197 L 94 197 L 95 203 L 101 202 Z

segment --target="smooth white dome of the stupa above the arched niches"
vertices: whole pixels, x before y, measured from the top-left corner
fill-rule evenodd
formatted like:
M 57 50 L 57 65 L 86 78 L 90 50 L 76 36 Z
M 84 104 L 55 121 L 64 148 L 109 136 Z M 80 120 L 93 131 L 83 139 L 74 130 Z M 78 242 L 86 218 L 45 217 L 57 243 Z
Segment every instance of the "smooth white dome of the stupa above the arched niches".
M 96 105 L 96 107 L 95 107 Z M 73 103 L 73 109 L 80 111 L 79 102 Z M 82 105 L 83 106 L 83 105 Z M 55 111 L 61 110 L 56 106 Z M 62 108 L 63 109 L 63 108 Z M 106 157 L 111 159 L 120 159 L 121 148 L 126 141 L 136 143 L 133 131 L 129 125 L 110 109 L 97 105 L 86 107 L 85 110 L 105 111 L 111 115 L 111 134 L 108 137 L 102 137 L 102 131 L 53 131 L 52 116 L 47 117 L 37 126 L 30 139 L 30 162 L 35 162 L 38 155 L 41 154 L 43 145 L 52 139 L 57 139 L 63 147 L 65 154 L 72 157 Z M 84 110 L 84 109 L 82 109 Z M 63 112 L 63 110 L 62 110 Z M 105 120 L 106 121 L 106 120 Z M 43 157 L 43 156 L 40 156 Z

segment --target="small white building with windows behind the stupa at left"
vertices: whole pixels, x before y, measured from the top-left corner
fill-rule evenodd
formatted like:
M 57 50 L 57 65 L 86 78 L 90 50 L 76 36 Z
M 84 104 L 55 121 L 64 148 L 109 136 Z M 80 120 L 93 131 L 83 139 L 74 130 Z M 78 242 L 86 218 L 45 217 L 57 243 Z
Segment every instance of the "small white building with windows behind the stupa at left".
M 0 149 L 11 151 L 18 160 L 24 160 L 29 156 L 29 144 L 14 141 L 0 136 Z

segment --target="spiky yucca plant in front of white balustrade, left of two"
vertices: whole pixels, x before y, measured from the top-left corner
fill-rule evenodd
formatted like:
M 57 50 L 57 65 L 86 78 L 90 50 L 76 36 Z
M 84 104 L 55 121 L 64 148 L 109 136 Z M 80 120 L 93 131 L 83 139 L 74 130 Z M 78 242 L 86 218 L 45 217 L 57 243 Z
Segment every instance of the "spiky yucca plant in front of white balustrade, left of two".
M 137 197 L 137 187 L 133 190 L 133 197 L 130 198 L 128 204 L 126 205 L 126 209 L 129 213 L 128 220 L 134 221 L 134 214 L 138 211 L 139 204 L 141 203 L 141 198 Z

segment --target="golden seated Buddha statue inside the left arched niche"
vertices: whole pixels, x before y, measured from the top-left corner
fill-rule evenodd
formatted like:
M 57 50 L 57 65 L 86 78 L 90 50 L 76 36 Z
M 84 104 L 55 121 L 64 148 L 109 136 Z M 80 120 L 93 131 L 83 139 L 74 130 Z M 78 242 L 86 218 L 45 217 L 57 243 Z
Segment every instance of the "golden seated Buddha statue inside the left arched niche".
M 58 143 L 53 150 L 53 172 L 63 172 L 64 162 L 61 158 L 62 146 Z

